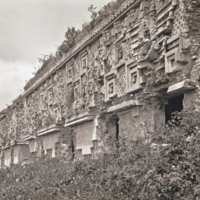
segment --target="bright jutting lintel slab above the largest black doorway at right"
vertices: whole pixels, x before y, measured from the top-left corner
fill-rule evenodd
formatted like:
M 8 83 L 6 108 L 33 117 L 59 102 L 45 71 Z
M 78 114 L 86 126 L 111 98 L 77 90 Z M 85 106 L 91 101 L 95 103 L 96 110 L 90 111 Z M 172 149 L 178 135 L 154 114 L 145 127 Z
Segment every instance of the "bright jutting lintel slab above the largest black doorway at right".
M 195 86 L 191 86 L 190 82 L 191 82 L 190 79 L 186 79 L 182 82 L 171 85 L 167 91 L 167 94 L 169 95 L 182 94 L 186 91 L 195 89 Z

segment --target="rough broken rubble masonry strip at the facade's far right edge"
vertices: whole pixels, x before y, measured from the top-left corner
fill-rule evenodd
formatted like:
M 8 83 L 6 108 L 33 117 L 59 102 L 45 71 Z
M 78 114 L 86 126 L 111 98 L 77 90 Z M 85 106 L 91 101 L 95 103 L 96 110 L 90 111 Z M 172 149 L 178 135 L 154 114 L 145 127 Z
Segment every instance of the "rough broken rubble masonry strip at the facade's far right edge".
M 184 94 L 184 108 L 200 110 L 200 1 L 185 1 L 185 19 L 188 24 L 187 34 L 191 39 L 190 52 L 194 60 L 191 66 L 190 80 L 196 89 Z

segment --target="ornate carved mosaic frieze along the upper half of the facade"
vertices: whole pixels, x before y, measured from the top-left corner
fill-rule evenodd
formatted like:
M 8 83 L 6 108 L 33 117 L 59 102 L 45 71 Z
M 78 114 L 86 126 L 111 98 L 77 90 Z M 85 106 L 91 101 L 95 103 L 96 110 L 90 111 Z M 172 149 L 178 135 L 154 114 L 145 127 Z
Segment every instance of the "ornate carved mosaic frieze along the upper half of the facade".
M 43 74 L 41 82 L 28 87 L 23 106 L 9 108 L 0 121 L 2 135 L 37 135 L 80 116 L 106 113 L 130 98 L 154 98 L 170 84 L 190 78 L 200 51 L 188 23 L 193 7 L 183 0 L 127 2 L 129 6 L 109 16 Z M 90 11 L 95 18 L 93 8 Z

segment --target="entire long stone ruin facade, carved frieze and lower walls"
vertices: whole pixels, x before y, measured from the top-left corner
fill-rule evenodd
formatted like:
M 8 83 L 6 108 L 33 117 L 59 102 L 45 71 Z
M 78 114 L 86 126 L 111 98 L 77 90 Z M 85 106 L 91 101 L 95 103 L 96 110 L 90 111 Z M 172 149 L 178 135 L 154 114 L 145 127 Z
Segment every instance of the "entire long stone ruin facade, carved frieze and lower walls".
M 0 113 L 1 166 L 90 155 L 200 108 L 200 1 L 126 0 Z

